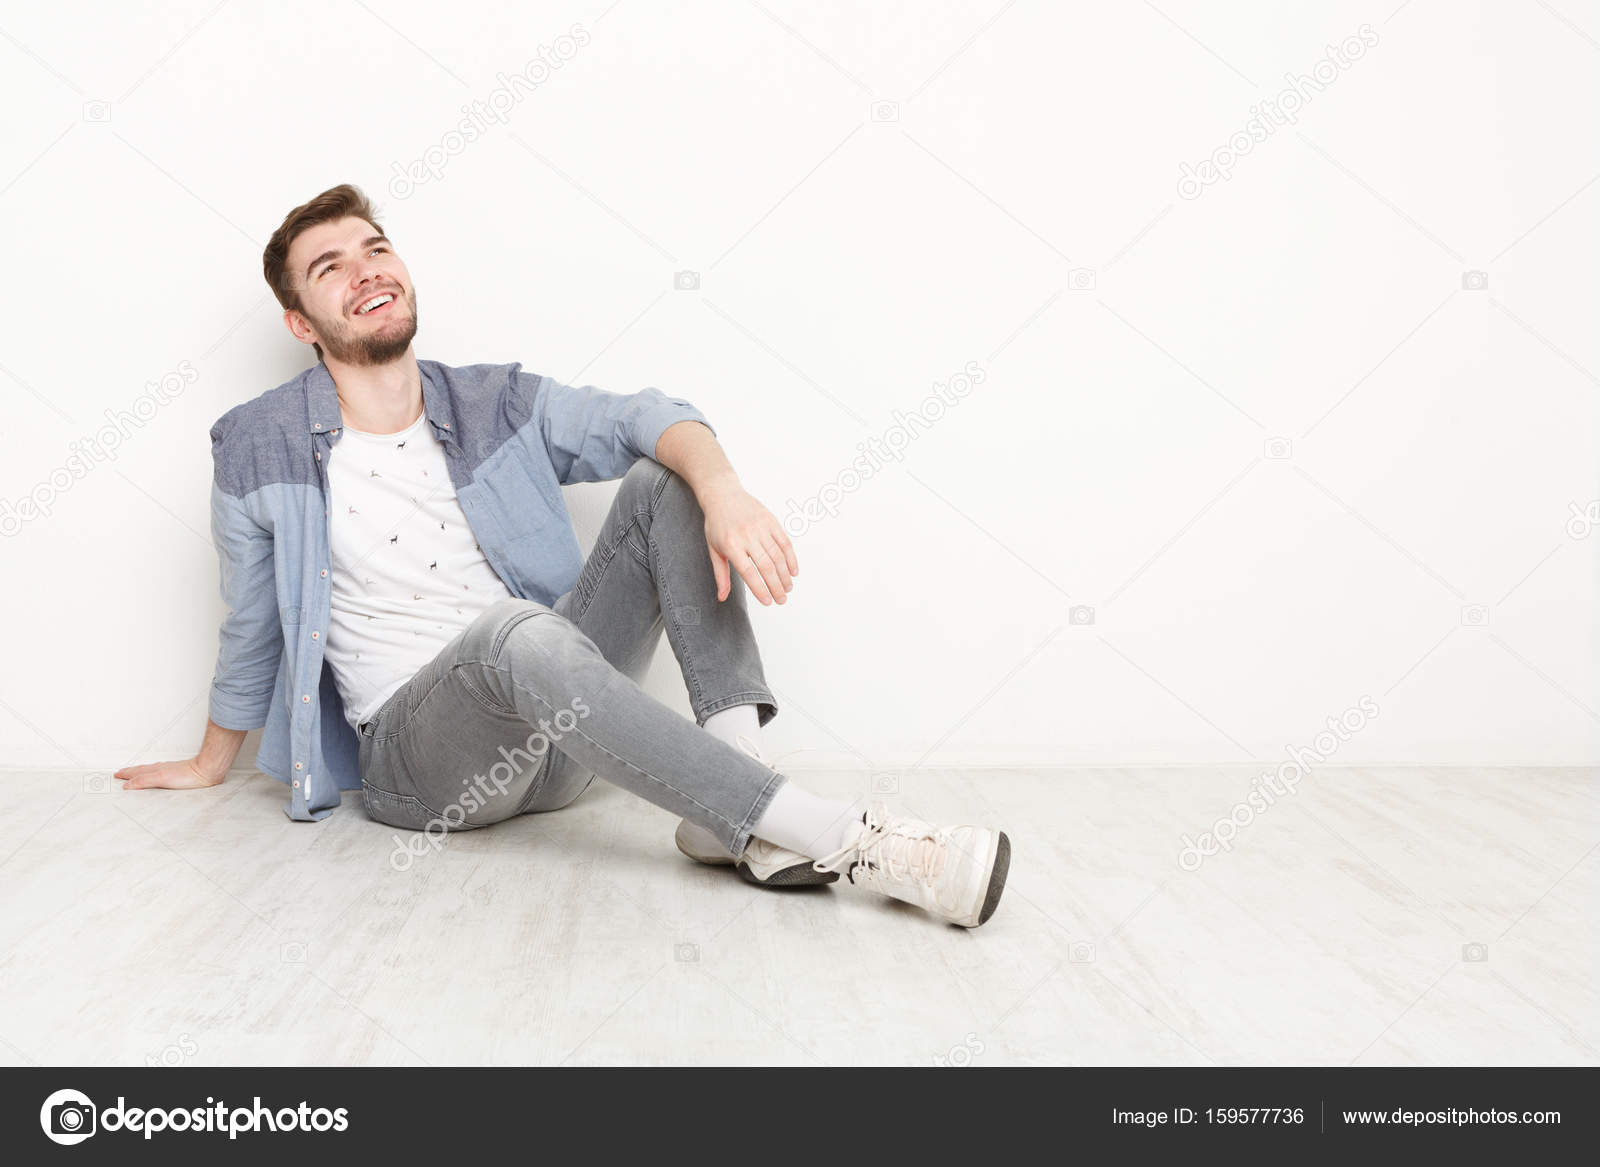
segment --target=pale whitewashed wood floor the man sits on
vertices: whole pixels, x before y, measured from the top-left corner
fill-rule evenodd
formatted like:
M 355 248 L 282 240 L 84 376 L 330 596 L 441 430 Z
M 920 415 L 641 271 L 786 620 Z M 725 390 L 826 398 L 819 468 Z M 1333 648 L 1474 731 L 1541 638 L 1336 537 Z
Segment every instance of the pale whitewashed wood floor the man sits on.
M 397 871 L 350 796 L 304 824 L 261 775 L 10 772 L 0 1061 L 1600 1061 L 1600 772 L 1326 768 L 1179 866 L 1259 772 L 902 775 L 1011 836 L 973 932 L 749 887 L 602 783 Z

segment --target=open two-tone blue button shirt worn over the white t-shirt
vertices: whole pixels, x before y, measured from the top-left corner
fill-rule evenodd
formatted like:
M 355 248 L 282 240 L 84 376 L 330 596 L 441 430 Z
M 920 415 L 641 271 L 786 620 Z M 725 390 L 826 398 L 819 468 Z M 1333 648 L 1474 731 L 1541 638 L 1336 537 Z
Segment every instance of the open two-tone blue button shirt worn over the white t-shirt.
M 418 360 L 422 411 L 490 567 L 552 605 L 582 570 L 562 487 L 622 477 L 677 421 L 710 423 L 659 389 L 573 387 L 522 365 Z M 328 459 L 344 426 L 320 362 L 211 426 L 211 538 L 222 620 L 210 717 L 266 725 L 256 767 L 288 784 L 285 813 L 326 818 L 362 788 L 358 740 L 323 661 L 333 594 Z M 715 432 L 715 431 L 712 431 Z

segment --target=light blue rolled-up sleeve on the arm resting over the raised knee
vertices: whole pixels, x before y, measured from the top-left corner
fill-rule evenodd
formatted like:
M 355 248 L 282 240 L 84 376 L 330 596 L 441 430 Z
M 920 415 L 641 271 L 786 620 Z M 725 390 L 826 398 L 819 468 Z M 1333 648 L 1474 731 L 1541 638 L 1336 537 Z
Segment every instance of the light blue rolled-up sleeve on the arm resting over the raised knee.
M 656 442 L 680 421 L 717 432 L 690 402 L 659 389 L 614 394 L 520 370 L 514 376 L 514 391 L 528 403 L 562 485 L 621 479 L 640 458 L 654 458 Z

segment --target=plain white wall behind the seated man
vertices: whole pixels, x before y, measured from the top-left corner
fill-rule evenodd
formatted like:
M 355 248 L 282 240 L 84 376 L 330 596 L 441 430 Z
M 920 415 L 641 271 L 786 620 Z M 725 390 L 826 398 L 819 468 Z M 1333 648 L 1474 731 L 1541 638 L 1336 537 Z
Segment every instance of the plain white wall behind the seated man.
M 1597 6 L 867 8 L 8 8 L 3 764 L 197 746 L 206 429 L 307 363 L 261 248 L 341 181 L 421 355 L 688 397 L 781 517 L 981 365 L 755 612 L 773 754 L 1280 759 L 1368 696 L 1341 762 L 1594 764 Z M 504 125 L 390 186 L 574 24 Z M 1362 26 L 1296 125 L 1179 192 Z M 586 539 L 613 488 L 573 493 Z M 666 648 L 651 690 L 688 708 Z

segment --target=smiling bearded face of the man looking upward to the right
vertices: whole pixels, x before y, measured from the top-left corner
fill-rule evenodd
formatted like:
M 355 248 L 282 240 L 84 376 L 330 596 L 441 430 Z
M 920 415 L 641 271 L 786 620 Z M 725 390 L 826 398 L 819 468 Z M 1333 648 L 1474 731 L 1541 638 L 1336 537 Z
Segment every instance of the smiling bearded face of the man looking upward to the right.
M 299 290 L 304 323 L 291 312 L 285 312 L 285 320 L 301 339 L 322 344 L 325 359 L 386 365 L 411 347 L 416 336 L 411 274 L 389 240 L 365 219 L 318 223 L 302 231 L 290 245 L 285 275 Z M 368 307 L 373 301 L 378 306 Z

